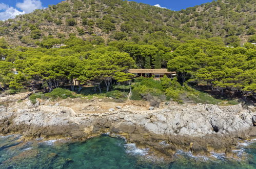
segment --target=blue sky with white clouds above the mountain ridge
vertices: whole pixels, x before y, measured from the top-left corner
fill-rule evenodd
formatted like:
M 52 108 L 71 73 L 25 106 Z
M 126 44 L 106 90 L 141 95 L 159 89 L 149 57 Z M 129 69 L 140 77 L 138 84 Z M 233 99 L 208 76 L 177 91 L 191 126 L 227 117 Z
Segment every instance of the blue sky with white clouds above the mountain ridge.
M 35 9 L 43 9 L 48 5 L 56 5 L 62 0 L 0 0 L 0 20 L 14 18 L 16 15 L 33 12 Z M 212 0 L 133 0 L 138 3 L 154 5 L 159 8 L 167 8 L 174 11 L 201 5 Z

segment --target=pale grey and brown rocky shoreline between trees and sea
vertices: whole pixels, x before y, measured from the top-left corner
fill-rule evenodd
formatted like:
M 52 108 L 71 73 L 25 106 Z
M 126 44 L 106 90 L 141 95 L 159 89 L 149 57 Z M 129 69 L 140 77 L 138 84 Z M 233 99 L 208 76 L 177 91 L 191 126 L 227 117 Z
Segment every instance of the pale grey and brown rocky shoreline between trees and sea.
M 102 105 L 104 101 L 94 99 L 94 102 Z M 77 104 L 83 107 L 85 103 Z M 109 133 L 168 158 L 178 150 L 195 155 L 209 155 L 214 151 L 235 156 L 232 150 L 240 139 L 256 137 L 255 108 L 243 108 L 241 104 L 225 107 L 169 104 L 140 111 L 120 106 L 104 111 L 76 112 L 62 105 L 47 105 L 42 100 L 33 105 L 30 100 L 11 99 L 0 106 L 0 134 L 21 134 L 26 141 L 38 138 L 85 140 Z

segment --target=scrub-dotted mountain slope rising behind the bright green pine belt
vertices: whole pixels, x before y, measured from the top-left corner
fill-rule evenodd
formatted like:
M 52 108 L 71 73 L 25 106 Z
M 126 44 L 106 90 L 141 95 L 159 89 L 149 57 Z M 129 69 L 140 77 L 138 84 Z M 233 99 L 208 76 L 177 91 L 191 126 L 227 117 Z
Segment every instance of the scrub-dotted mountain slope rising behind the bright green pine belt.
M 239 44 L 255 33 L 255 2 L 218 0 L 171 11 L 122 0 L 66 0 L 0 22 L 0 37 L 12 46 L 38 46 L 49 35 L 58 39 L 76 35 L 99 44 L 147 41 L 148 34 L 158 32 L 180 41 L 218 36 L 226 45 Z

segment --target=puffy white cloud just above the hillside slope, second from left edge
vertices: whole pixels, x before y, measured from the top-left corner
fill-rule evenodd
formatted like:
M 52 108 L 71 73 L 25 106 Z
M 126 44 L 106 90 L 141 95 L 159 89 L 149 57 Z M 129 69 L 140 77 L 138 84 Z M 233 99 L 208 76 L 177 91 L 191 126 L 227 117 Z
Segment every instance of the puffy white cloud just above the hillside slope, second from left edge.
M 24 0 L 23 3 L 17 3 L 16 7 L 23 10 L 25 13 L 33 12 L 35 9 L 43 9 L 40 0 Z

